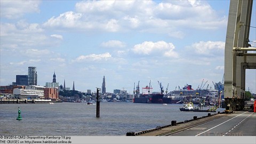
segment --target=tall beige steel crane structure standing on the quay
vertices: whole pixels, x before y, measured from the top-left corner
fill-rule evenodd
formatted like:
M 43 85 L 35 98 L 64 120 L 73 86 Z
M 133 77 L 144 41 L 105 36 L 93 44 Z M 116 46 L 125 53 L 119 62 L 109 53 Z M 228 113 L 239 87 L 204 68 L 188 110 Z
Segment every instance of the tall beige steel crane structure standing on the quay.
M 252 0 L 230 1 L 224 79 L 227 111 L 244 108 L 245 70 L 256 69 L 256 48 L 249 44 L 252 3 Z

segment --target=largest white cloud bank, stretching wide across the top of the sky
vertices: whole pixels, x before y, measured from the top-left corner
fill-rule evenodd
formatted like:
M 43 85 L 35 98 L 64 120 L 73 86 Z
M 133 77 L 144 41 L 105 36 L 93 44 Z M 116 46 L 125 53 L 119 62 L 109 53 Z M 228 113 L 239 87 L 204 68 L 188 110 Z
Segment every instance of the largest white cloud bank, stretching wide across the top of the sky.
M 76 12 L 52 17 L 44 26 L 109 32 L 137 29 L 183 38 L 188 32 L 180 27 L 218 29 L 227 24 L 227 18 L 218 17 L 204 1 L 83 1 L 75 8 Z

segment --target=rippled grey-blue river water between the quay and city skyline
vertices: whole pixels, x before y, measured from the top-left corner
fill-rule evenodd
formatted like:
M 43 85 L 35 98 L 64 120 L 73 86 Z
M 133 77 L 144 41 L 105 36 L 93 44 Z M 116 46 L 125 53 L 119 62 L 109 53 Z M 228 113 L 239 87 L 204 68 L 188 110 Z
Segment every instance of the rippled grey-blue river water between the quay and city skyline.
M 86 102 L 1 104 L 0 135 L 118 136 L 169 125 L 173 120 L 181 122 L 193 119 L 193 116 L 207 115 L 205 112 L 180 111 L 181 106 L 101 102 L 100 118 L 97 118 L 96 105 L 86 105 Z M 22 121 L 16 120 L 18 107 Z

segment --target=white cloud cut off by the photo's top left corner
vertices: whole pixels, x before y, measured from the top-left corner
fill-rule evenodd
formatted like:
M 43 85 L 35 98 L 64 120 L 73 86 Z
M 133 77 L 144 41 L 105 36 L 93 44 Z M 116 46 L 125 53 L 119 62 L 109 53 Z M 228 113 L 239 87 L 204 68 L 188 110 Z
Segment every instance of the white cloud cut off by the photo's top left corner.
M 17 19 L 25 13 L 39 12 L 40 1 L 1 1 L 1 18 Z

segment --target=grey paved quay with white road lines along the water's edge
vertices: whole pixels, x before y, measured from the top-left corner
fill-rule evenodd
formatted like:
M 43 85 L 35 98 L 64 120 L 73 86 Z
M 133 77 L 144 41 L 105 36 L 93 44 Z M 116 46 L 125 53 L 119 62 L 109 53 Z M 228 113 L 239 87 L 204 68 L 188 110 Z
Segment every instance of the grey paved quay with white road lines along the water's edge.
M 234 121 L 236 126 L 230 124 Z M 256 136 L 255 123 L 256 113 L 251 110 L 235 111 L 233 114 L 209 113 L 175 124 L 172 121 L 170 125 L 157 126 L 155 129 L 127 132 L 126 136 Z

